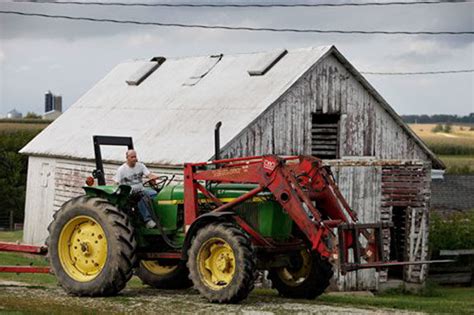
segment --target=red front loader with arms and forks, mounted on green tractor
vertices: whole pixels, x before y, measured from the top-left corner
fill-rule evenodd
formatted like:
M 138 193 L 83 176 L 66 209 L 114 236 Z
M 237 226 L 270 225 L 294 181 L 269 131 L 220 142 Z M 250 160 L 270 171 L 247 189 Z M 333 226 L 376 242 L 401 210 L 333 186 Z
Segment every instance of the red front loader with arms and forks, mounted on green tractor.
M 223 204 L 199 183 L 203 181 L 257 186 L 239 198 Z M 214 212 L 229 210 L 262 191 L 271 192 L 305 234 L 312 250 L 319 252 L 323 257 L 338 256 L 342 273 L 394 264 L 420 263 L 386 260 L 382 231 L 390 228 L 390 225 L 357 223 L 357 214 L 342 196 L 330 169 L 315 157 L 267 155 L 185 164 L 186 231 L 199 216 L 198 191 L 209 200 L 215 200 Z M 234 218 L 252 237 L 256 246 L 267 249 L 275 247 L 272 240 L 265 239 L 242 218 L 237 216 Z M 328 241 L 330 238 L 336 238 L 334 228 L 338 228 L 338 246 L 332 246 Z M 349 259 L 350 249 L 352 259 Z

